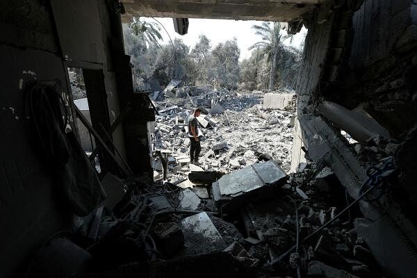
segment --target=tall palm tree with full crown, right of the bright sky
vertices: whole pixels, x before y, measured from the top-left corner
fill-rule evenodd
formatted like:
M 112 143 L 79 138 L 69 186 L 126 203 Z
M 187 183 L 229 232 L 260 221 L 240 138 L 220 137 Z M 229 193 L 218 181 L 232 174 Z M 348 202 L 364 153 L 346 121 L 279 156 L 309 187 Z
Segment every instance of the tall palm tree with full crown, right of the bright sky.
M 278 54 L 281 49 L 281 40 L 289 38 L 285 36 L 282 38 L 281 33 L 281 22 L 273 22 L 272 28 L 268 22 L 262 22 L 261 25 L 254 25 L 252 28 L 255 30 L 256 35 L 260 35 L 262 40 L 254 43 L 250 49 L 259 48 L 261 49 L 261 57 L 267 56 L 267 61 L 270 63 L 270 83 L 269 90 L 273 90 L 275 87 L 275 76 L 277 74 Z M 272 59 L 272 61 L 271 61 Z

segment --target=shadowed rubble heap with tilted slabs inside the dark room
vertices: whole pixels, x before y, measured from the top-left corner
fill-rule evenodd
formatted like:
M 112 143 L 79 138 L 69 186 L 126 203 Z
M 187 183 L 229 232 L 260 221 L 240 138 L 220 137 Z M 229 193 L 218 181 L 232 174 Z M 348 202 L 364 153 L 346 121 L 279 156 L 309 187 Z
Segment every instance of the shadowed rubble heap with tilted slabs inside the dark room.
M 264 161 L 200 190 L 109 173 L 103 185 L 119 199 L 112 194 L 74 220 L 70 240 L 45 247 L 74 245 L 79 257 L 65 270 L 74 277 L 382 277 L 354 230 L 355 208 L 304 240 L 351 202 L 338 199 L 345 195 L 329 167 L 309 162 L 287 175 Z M 39 252 L 28 277 L 42 272 L 48 254 Z

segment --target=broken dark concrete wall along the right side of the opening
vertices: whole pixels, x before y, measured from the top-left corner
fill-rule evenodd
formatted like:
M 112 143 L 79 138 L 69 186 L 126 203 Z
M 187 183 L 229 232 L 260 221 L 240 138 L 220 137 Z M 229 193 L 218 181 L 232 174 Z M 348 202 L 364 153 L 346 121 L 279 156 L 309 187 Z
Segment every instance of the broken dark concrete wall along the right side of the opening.
M 334 17 L 334 22 L 331 27 L 323 28 L 320 19 L 328 15 Z M 317 106 L 324 100 L 349 109 L 361 105 L 389 131 L 395 142 L 408 138 L 403 145 L 407 145 L 407 152 L 414 153 L 415 147 L 410 145 L 413 131 L 407 137 L 402 134 L 417 121 L 415 22 L 416 1 L 411 0 L 347 1 L 338 7 L 330 4 L 327 13 L 313 15 L 309 21 L 304 65 L 297 88 L 300 92 L 300 124 L 306 134 L 309 156 L 313 161 L 332 167 L 351 197 L 359 196 L 358 188 L 366 180 L 366 167 L 376 162 L 360 160 L 353 147 L 342 138 L 341 129 L 330 122 L 331 117 L 329 120 L 322 117 Z M 318 38 L 323 36 L 328 40 L 320 44 Z M 303 81 L 306 76 L 311 80 Z M 404 162 L 407 159 L 404 158 Z M 415 186 L 411 182 L 415 180 L 415 174 L 411 172 L 415 173 L 416 163 L 398 162 L 400 167 L 404 164 L 407 167 L 404 168 L 406 171 L 401 169 L 402 180 L 395 184 L 397 188 L 393 195 L 407 192 L 411 202 L 395 196 L 389 202 L 388 198 L 380 199 L 379 209 L 383 208 L 385 215 L 373 204 L 361 201 L 359 206 L 366 218 L 380 226 L 377 243 L 367 240 L 379 256 L 380 265 L 393 277 L 409 277 L 414 271 L 409 266 L 414 263 L 404 263 L 404 260 L 399 260 L 395 266 L 389 263 L 395 259 L 389 256 L 393 246 L 397 258 L 416 259 L 414 251 L 404 251 L 415 250 L 417 246 L 415 208 L 398 209 L 404 208 L 406 203 L 415 204 Z M 368 227 L 362 232 L 375 234 Z M 390 240 L 393 234 L 397 235 L 395 243 Z

